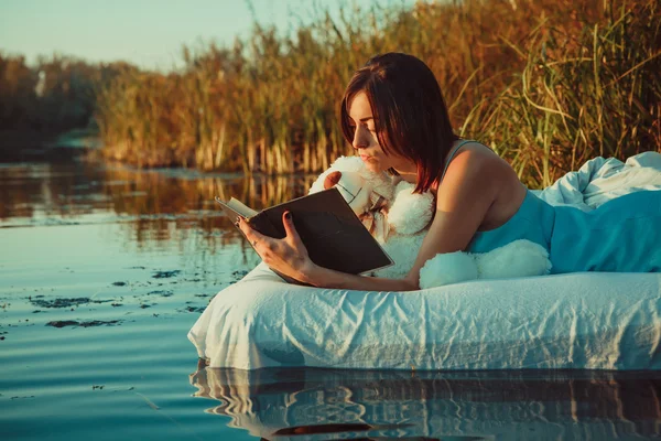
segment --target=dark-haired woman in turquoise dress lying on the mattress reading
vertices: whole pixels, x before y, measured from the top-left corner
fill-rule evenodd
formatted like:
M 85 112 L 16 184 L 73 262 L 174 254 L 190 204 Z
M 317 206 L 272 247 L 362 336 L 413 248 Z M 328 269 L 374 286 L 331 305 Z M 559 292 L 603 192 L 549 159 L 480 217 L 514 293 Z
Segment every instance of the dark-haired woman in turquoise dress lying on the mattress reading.
M 326 288 L 416 290 L 420 269 L 438 252 L 486 252 L 521 238 L 550 251 L 554 272 L 661 271 L 661 192 L 632 193 L 588 214 L 546 204 L 489 148 L 453 133 L 438 83 L 414 56 L 383 54 L 357 71 L 342 101 L 342 128 L 370 170 L 433 192 L 434 218 L 403 280 L 316 266 L 290 213 L 283 239 L 237 219 L 263 261 L 286 276 Z

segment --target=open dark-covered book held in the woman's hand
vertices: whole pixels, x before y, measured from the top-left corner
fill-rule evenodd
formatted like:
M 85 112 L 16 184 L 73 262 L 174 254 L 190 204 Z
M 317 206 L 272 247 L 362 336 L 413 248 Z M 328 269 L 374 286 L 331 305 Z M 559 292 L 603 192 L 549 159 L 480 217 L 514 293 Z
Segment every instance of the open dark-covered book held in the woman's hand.
M 216 197 L 216 202 L 232 223 L 238 215 L 241 215 L 252 228 L 278 239 L 286 235 L 282 225 L 282 215 L 285 211 L 290 211 L 310 258 L 318 266 L 360 275 L 393 263 L 335 187 L 274 205 L 261 212 L 256 212 L 234 197 L 228 202 Z M 290 283 L 301 284 L 297 280 L 274 272 Z

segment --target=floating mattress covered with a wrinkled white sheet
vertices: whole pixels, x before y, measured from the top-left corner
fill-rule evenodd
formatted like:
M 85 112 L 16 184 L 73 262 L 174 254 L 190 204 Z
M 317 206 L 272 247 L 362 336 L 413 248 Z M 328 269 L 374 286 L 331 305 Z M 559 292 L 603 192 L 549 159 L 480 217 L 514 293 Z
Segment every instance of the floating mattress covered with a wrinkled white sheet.
M 188 338 L 212 367 L 661 369 L 661 275 L 574 273 L 414 292 L 286 284 L 263 263 Z

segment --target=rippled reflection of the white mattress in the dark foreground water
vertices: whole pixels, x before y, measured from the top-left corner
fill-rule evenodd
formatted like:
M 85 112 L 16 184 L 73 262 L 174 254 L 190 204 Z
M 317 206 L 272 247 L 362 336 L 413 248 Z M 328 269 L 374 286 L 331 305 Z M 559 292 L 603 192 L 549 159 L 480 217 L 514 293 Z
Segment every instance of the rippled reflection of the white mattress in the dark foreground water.
M 646 439 L 661 373 L 205 368 L 208 412 L 263 439 Z M 419 438 L 425 437 L 425 438 Z

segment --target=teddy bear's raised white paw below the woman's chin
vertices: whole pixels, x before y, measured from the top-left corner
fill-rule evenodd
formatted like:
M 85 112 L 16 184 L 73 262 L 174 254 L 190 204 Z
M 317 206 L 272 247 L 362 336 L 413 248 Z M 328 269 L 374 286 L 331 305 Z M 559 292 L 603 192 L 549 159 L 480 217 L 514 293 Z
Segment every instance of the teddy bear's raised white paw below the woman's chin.
M 401 181 L 394 187 L 394 201 L 388 211 L 388 223 L 400 234 L 412 235 L 432 219 L 434 196 L 431 192 L 412 193 L 415 185 Z

